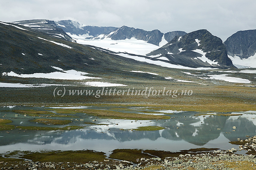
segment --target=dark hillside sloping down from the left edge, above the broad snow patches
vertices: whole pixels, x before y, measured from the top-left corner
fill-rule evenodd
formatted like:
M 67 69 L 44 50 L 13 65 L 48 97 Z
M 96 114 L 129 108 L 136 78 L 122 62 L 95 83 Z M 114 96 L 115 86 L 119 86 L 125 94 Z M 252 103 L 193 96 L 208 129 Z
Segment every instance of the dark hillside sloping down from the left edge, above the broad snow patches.
M 58 67 L 63 70 L 98 74 L 106 70 L 111 73 L 133 69 L 134 65 L 147 65 L 96 48 L 57 38 L 29 27 L 0 22 L 0 73 L 62 72 L 54 68 Z M 126 74 L 124 71 L 123 73 Z

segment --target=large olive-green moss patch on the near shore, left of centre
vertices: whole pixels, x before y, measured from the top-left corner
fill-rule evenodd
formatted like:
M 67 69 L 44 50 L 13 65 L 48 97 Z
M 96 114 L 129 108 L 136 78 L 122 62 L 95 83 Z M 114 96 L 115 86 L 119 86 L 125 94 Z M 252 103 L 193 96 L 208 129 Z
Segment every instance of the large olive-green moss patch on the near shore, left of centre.
M 88 163 L 89 161 L 104 162 L 106 155 L 104 152 L 93 150 L 76 150 L 76 151 L 51 151 L 51 152 L 34 152 L 22 156 L 25 159 L 31 159 L 34 162 L 76 162 Z

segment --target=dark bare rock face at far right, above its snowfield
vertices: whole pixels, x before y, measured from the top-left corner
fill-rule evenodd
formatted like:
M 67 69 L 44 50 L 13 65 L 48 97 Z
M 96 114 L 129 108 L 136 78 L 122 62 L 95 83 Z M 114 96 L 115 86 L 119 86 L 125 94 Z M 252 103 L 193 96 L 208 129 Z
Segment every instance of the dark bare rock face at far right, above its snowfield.
M 230 56 L 248 58 L 256 53 L 256 29 L 238 31 L 224 42 Z

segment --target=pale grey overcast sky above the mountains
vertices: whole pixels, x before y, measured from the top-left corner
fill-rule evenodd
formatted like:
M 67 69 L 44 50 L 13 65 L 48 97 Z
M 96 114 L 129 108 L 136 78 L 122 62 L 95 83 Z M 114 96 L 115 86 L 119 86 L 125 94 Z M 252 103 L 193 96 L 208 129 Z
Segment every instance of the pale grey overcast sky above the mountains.
M 207 29 L 223 41 L 256 29 L 255 0 L 0 0 L 0 21 L 48 19 L 147 31 Z

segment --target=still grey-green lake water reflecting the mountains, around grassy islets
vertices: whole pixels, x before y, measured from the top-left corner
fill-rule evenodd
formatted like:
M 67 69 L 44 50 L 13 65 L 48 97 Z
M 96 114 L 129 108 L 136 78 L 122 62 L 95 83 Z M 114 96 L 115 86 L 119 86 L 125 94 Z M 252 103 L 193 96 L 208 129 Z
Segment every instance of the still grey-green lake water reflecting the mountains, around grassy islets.
M 55 107 L 63 108 L 63 107 Z M 104 109 L 115 110 L 114 107 L 81 106 L 64 108 L 83 108 L 83 109 Z M 31 106 L 12 106 L 0 108 L 0 116 L 12 120 L 10 123 L 14 126 L 50 126 L 63 127 L 59 125 L 44 125 L 40 123 L 29 122 L 34 118 L 42 117 L 24 117 L 22 114 L 15 117 L 12 110 L 45 110 L 49 107 L 31 107 Z M 54 109 L 53 107 L 51 109 Z M 138 113 L 148 110 L 147 108 L 126 107 L 126 110 L 117 110 L 124 113 Z M 84 129 L 70 131 L 35 131 L 13 129 L 0 131 L 0 153 L 14 150 L 97 150 L 107 154 L 114 149 L 154 149 L 179 151 L 191 148 L 237 148 L 237 145 L 228 143 L 236 141 L 237 138 L 245 139 L 246 135 L 256 135 L 256 111 L 233 112 L 233 114 L 243 114 L 242 116 L 194 116 L 197 112 L 175 112 L 164 111 L 171 119 L 168 120 L 118 120 L 101 119 L 98 117 L 77 113 L 70 117 L 52 117 L 53 119 L 70 120 L 72 123 L 65 126 L 85 126 Z M 173 113 L 174 112 L 174 113 Z M 156 112 L 163 115 L 163 113 Z M 217 114 L 217 113 L 216 113 Z M 44 117 L 45 118 L 45 117 Z M 84 122 L 92 122 L 108 125 L 88 125 Z M 78 121 L 75 121 L 78 119 Z M 83 121 L 79 121 L 83 119 Z M 117 125 L 118 124 L 118 125 Z M 159 131 L 131 131 L 122 129 L 135 129 L 139 126 L 162 126 L 165 129 Z M 235 131 L 232 128 L 236 126 Z M 179 127 L 179 129 L 177 129 Z M 218 130 L 219 128 L 220 130 Z M 243 152 L 243 151 L 242 151 Z M 241 152 L 241 153 L 242 153 Z M 238 152 L 239 153 L 239 152 Z

